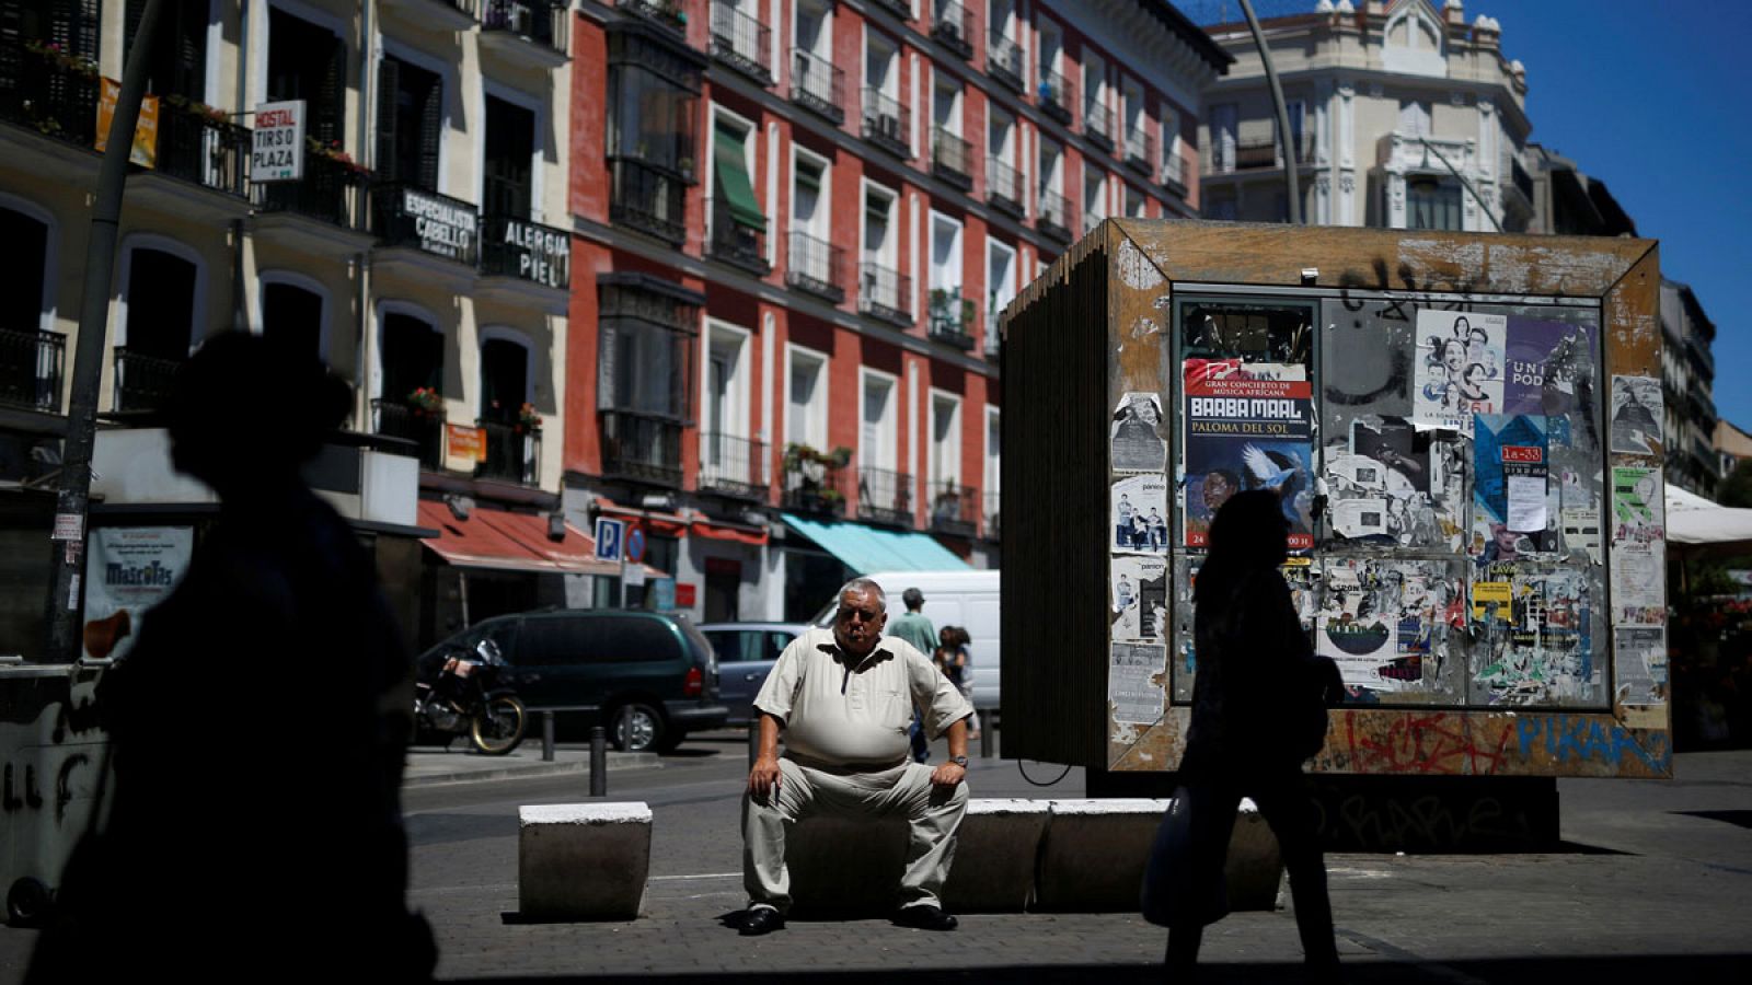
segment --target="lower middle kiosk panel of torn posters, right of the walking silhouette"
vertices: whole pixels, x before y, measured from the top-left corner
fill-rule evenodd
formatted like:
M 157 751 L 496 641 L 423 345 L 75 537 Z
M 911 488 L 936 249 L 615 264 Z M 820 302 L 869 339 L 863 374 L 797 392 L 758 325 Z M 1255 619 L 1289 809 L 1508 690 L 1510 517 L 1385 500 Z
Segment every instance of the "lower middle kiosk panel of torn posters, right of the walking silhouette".
M 1339 664 L 1351 701 L 1465 699 L 1463 577 L 1452 559 L 1326 559 L 1314 648 Z

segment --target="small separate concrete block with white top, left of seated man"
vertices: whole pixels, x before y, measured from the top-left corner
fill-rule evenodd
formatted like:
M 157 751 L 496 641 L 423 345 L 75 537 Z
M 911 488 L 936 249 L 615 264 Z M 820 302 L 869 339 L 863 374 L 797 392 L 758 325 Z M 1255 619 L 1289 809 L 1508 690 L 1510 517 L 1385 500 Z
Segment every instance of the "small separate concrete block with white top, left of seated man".
M 517 908 L 526 920 L 632 920 L 650 868 L 645 803 L 517 808 Z

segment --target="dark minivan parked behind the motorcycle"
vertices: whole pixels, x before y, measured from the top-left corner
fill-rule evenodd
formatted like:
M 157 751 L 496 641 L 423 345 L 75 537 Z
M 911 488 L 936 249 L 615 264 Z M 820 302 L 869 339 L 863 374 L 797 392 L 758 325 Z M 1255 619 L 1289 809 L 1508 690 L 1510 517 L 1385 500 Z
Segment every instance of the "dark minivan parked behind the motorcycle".
M 668 752 L 687 733 L 722 727 L 729 710 L 718 699 L 711 643 L 685 615 L 610 608 L 559 608 L 485 619 L 433 647 L 433 659 L 491 638 L 505 668 L 499 680 L 531 712 L 594 706 L 620 748 Z M 622 738 L 622 710 L 632 734 Z M 582 715 L 561 715 L 561 722 Z

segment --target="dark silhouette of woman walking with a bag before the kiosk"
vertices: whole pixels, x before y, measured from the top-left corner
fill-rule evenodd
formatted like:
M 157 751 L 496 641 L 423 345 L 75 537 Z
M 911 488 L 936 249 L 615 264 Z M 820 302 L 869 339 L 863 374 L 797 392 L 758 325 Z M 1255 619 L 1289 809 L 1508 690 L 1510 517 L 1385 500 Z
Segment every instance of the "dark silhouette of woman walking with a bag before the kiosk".
M 1302 757 L 1286 734 L 1289 680 L 1310 655 L 1289 587 L 1277 566 L 1288 556 L 1289 521 L 1275 492 L 1232 496 L 1211 522 L 1211 554 L 1198 570 L 1193 615 L 1198 677 L 1181 759 L 1191 824 L 1191 896 L 1214 894 L 1240 797 L 1253 797 L 1282 848 L 1303 960 L 1316 980 L 1335 980 L 1326 866 L 1316 838 L 1314 801 Z M 1205 892 L 1205 887 L 1211 887 Z M 1167 962 L 1191 974 L 1200 922 L 1169 927 Z

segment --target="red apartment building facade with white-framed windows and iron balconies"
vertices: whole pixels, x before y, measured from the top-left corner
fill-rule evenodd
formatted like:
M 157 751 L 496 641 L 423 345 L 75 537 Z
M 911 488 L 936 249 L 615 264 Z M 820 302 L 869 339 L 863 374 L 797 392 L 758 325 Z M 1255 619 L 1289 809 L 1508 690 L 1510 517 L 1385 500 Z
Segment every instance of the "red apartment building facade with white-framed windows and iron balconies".
M 568 517 L 713 620 L 997 566 L 995 315 L 1197 216 L 1223 53 L 1153 0 L 583 0 L 573 54 Z

